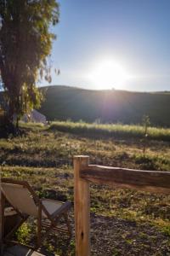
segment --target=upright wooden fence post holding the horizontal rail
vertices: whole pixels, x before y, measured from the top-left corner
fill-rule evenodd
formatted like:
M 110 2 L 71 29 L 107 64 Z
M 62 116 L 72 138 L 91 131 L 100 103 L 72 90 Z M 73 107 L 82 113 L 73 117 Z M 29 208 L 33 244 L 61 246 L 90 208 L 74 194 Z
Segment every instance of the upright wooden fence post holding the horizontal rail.
M 88 181 L 80 177 L 82 166 L 88 166 L 89 157 L 74 157 L 74 211 L 76 255 L 90 255 L 90 195 Z

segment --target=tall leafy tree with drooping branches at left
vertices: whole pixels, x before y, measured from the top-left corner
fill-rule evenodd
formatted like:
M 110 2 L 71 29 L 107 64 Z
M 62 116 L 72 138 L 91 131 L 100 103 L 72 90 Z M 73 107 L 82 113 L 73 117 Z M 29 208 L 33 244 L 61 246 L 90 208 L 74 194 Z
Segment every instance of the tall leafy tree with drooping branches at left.
M 55 0 L 0 1 L 0 79 L 7 104 L 8 121 L 18 120 L 40 106 L 42 94 L 36 83 L 49 82 L 48 55 L 55 38 L 50 26 L 59 22 Z

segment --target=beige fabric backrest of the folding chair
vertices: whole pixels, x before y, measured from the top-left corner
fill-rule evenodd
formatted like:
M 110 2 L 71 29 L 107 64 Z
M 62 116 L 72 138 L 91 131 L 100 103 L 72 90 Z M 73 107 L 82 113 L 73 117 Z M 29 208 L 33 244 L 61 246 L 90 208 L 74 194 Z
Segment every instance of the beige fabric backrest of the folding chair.
M 37 217 L 37 205 L 31 191 L 23 184 L 0 183 L 3 195 L 14 209 L 20 213 Z

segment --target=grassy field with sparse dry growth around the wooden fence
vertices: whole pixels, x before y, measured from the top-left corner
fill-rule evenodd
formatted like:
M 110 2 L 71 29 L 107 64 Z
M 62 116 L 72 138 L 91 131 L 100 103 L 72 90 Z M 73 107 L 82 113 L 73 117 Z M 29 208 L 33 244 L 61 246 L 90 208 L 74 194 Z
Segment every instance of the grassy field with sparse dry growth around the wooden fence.
M 162 136 L 163 130 L 150 130 L 157 133 L 143 144 L 140 136 L 133 136 L 130 126 L 128 136 L 123 135 L 124 131 L 115 136 L 113 131 L 109 132 L 110 136 L 99 131 L 96 136 L 104 126 L 92 125 L 90 130 L 87 124 L 79 124 L 86 126 L 83 130 L 77 128 L 78 124 L 76 128 L 72 125 L 30 124 L 23 126 L 25 136 L 1 138 L 2 176 L 26 179 L 41 197 L 73 201 L 72 157 L 75 154 L 88 154 L 93 164 L 170 171 L 169 139 L 161 140 L 156 135 L 161 131 Z M 90 189 L 92 255 L 170 255 L 170 195 L 99 185 L 91 185 Z M 74 227 L 73 211 L 71 224 Z M 30 229 L 29 223 L 18 232 L 20 241 L 31 238 Z M 74 236 L 71 241 L 66 236 L 50 236 L 43 243 L 42 251 L 49 255 L 73 256 Z

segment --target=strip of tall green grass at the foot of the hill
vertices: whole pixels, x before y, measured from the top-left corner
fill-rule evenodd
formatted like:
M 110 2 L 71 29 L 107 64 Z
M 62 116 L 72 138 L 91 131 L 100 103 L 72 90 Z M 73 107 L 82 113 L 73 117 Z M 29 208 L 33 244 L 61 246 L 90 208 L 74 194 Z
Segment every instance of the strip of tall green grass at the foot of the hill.
M 90 137 L 132 137 L 144 140 L 170 141 L 170 129 L 148 127 L 148 137 L 144 138 L 144 126 L 122 124 L 88 124 L 85 122 L 53 122 L 50 129 L 67 131 Z

